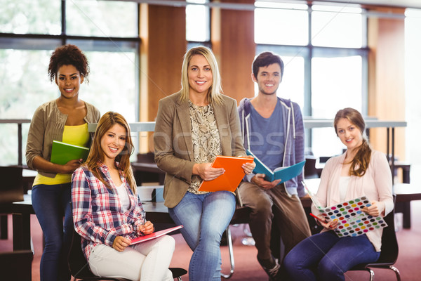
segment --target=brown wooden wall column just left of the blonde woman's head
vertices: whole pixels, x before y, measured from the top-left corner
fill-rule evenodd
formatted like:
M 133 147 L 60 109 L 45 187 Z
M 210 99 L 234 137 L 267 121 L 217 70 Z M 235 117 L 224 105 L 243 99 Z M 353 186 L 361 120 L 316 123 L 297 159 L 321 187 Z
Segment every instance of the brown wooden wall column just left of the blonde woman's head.
M 159 100 L 180 90 L 185 22 L 185 7 L 140 4 L 140 122 L 155 121 Z M 139 152 L 149 150 L 152 133 L 141 133 Z

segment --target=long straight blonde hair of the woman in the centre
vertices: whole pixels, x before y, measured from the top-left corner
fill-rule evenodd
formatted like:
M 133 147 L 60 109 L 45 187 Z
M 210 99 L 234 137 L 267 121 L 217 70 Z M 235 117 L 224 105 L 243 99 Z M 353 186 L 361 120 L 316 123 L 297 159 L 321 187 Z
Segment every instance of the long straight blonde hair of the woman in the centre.
M 205 57 L 206 60 L 208 60 L 210 70 L 212 70 L 212 85 L 210 85 L 208 89 L 208 102 L 213 103 L 215 101 L 215 103 L 222 104 L 223 99 L 221 95 L 223 92 L 218 63 L 216 61 L 215 55 L 213 55 L 212 51 L 210 51 L 210 48 L 207 48 L 205 46 L 191 48 L 189 49 L 189 51 L 187 51 L 187 53 L 185 53 L 181 67 L 181 89 L 179 91 L 180 100 L 182 102 L 189 100 L 190 86 L 188 71 L 190 60 L 192 60 L 192 57 L 194 55 L 203 55 L 203 57 Z

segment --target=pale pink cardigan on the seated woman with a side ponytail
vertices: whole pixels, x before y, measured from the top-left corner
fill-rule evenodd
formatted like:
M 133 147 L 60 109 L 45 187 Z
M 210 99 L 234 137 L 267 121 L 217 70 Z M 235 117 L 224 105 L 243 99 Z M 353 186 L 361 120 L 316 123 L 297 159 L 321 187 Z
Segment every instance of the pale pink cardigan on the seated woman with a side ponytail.
M 345 155 L 346 152 L 343 155 L 330 158 L 323 168 L 319 190 L 317 190 L 316 195 L 322 207 L 340 203 L 339 179 Z M 382 207 L 385 207 L 385 216 L 394 207 L 392 173 L 386 156 L 382 152 L 373 150 L 366 174 L 361 177 L 351 176 L 349 180 L 345 200 L 352 200 L 363 195 L 366 195 L 370 201 L 379 201 L 382 204 L 379 209 L 382 210 Z M 314 204 L 312 204 L 312 212 L 317 214 Z M 322 231 L 327 230 L 323 229 Z M 367 233 L 368 240 L 373 244 L 376 251 L 380 251 L 382 246 L 382 232 L 383 230 L 380 229 Z

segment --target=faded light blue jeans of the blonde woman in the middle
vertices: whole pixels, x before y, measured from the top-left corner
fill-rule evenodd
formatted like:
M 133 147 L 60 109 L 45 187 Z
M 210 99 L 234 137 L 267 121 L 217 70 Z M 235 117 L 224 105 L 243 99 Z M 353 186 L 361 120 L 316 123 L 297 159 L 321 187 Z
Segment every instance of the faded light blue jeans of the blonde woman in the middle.
M 196 195 L 186 192 L 180 203 L 168 208 L 173 221 L 193 251 L 189 280 L 221 280 L 220 242 L 235 211 L 232 192 L 217 191 Z

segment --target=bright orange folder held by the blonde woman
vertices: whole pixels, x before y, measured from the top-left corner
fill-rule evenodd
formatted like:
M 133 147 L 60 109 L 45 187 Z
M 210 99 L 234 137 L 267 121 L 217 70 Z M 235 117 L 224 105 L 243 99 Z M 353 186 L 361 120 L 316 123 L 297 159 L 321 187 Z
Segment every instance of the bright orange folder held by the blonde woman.
M 253 158 L 217 156 L 212 163 L 212 167 L 224 168 L 225 173 L 212 181 L 202 181 L 199 191 L 227 190 L 234 192 L 239 186 L 241 179 L 246 175 L 241 165 L 252 162 Z

